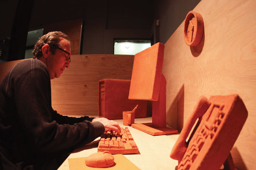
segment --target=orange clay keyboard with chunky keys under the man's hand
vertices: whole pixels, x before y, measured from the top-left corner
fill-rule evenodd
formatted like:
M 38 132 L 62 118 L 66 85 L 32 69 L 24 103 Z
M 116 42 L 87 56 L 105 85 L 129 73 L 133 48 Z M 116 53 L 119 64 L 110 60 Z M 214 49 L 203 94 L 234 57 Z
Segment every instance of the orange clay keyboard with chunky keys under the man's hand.
M 138 147 L 134 142 L 134 139 L 130 133 L 130 130 L 126 127 L 121 128 L 121 134 L 116 132 L 105 132 L 102 134 L 98 145 L 98 152 L 105 150 L 111 154 L 135 154 L 138 153 Z

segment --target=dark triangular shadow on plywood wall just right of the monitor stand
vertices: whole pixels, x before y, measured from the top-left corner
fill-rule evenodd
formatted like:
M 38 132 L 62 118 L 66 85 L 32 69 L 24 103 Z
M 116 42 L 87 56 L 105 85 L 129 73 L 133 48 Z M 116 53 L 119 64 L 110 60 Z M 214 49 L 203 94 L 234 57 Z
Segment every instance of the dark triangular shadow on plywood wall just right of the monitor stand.
M 179 132 L 183 128 L 184 121 L 184 84 L 176 95 L 171 107 L 167 110 L 167 124 Z

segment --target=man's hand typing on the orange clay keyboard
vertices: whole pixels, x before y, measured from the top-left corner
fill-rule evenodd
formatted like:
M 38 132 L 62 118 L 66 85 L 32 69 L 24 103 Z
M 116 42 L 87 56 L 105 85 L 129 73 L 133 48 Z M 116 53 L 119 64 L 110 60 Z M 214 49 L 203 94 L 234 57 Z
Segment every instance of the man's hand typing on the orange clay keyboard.
M 113 120 L 109 120 L 106 118 L 95 118 L 92 120 L 92 122 L 96 122 L 96 121 L 104 125 L 105 132 L 110 130 L 116 131 L 118 134 L 120 134 L 121 132 L 121 128 L 119 127 L 118 123 Z

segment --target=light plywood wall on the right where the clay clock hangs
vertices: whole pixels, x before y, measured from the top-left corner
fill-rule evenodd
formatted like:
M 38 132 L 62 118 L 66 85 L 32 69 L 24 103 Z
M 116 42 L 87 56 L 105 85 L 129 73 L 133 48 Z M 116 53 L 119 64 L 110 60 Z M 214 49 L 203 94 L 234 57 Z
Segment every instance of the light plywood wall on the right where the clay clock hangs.
M 255 7 L 255 0 L 202 0 L 194 9 L 204 21 L 199 47 L 186 45 L 183 21 L 165 44 L 163 63 L 167 123 L 179 130 L 200 95 L 238 94 L 243 99 L 248 119 L 232 149 L 239 170 L 256 169 Z

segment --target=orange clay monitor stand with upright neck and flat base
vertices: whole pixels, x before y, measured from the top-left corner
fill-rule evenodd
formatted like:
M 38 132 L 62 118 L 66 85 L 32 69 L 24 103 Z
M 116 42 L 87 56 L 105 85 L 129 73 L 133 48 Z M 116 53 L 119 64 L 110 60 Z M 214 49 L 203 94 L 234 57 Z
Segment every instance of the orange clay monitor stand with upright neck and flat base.
M 166 127 L 166 79 L 163 74 L 158 101 L 152 101 L 152 123 L 135 123 L 131 126 L 153 136 L 178 133 L 178 130 Z

